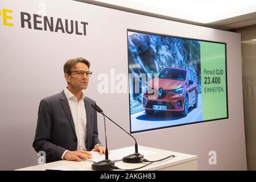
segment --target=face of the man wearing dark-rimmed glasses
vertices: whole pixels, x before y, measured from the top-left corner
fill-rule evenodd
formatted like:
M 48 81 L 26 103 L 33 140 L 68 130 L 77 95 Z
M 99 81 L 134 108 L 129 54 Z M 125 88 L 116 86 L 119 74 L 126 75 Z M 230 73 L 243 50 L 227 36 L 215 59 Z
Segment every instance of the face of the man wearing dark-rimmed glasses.
M 75 67 L 71 71 L 87 72 L 89 71 L 89 68 L 84 63 L 76 63 Z M 86 73 L 84 73 L 84 75 L 81 75 L 77 72 L 72 72 L 71 75 L 67 74 L 66 79 L 69 81 L 69 86 L 71 86 L 74 90 L 86 89 L 89 82 L 89 76 L 86 75 Z

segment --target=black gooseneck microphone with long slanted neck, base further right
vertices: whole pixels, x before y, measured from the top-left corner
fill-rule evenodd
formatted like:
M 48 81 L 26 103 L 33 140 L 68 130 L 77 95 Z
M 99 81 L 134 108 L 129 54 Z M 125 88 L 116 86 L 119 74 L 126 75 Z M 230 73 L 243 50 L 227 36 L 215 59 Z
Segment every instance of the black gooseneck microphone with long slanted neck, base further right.
M 138 144 L 137 144 L 137 140 L 133 137 L 133 135 L 131 135 L 130 133 L 128 133 L 125 129 L 123 129 L 121 126 L 119 126 L 117 123 L 115 123 L 112 119 L 110 119 L 108 116 L 106 116 L 102 109 L 97 105 L 91 105 L 98 113 L 101 113 L 102 115 L 104 115 L 106 118 L 108 118 L 110 121 L 112 121 L 115 125 L 117 125 L 119 128 L 121 128 L 123 131 L 125 131 L 125 133 L 127 133 L 128 135 L 130 135 L 134 140 L 135 140 L 135 153 L 131 154 L 131 155 L 127 155 L 125 157 L 123 157 L 123 162 L 124 163 L 142 163 L 143 162 L 143 155 L 139 154 L 138 152 Z M 104 118 L 105 118 L 104 117 Z

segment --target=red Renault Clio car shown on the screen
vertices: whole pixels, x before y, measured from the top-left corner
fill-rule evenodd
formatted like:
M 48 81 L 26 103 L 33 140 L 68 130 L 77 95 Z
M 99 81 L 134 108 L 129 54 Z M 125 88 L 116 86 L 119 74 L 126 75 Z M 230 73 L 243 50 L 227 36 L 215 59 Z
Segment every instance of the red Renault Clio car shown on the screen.
M 162 110 L 179 111 L 185 117 L 188 108 L 196 108 L 197 102 L 197 83 L 188 69 L 164 68 L 147 83 L 143 94 L 143 107 L 148 115 Z

